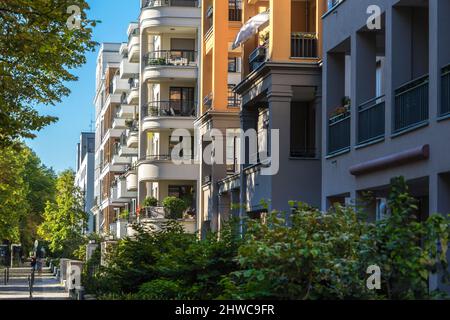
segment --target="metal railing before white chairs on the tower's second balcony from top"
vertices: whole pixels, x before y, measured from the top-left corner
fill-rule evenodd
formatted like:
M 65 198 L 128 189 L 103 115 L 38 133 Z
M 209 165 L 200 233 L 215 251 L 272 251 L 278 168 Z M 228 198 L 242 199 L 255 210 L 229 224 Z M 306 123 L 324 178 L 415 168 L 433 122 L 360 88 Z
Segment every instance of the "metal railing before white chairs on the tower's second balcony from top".
M 193 50 L 159 50 L 149 52 L 145 66 L 196 66 L 197 52 Z

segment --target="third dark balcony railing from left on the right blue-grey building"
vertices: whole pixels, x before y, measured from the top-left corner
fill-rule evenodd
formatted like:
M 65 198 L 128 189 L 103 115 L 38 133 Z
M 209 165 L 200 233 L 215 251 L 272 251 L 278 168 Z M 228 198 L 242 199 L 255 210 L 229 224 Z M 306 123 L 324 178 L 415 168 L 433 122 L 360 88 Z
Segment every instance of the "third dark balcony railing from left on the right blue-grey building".
M 394 133 L 414 127 L 428 119 L 428 75 L 395 90 Z

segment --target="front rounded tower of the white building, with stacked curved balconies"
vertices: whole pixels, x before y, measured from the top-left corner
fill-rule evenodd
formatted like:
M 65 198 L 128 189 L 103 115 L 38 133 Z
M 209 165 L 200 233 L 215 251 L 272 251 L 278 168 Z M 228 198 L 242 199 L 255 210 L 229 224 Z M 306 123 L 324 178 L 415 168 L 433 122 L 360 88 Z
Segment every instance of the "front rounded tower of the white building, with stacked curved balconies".
M 198 1 L 141 1 L 138 29 L 133 33 L 139 45 L 133 53 L 133 40 L 128 43 L 128 57 L 138 63 L 139 79 L 138 126 L 132 137 L 133 147 L 137 141 L 137 158 L 125 174 L 127 186 L 137 191 L 131 213 L 157 226 L 166 220 L 163 200 L 184 199 L 190 206 L 179 220 L 190 232 L 195 231 L 198 177 L 191 137 L 197 115 L 199 30 Z M 173 159 L 173 149 L 183 140 L 192 147 Z M 148 199 L 155 199 L 156 205 Z

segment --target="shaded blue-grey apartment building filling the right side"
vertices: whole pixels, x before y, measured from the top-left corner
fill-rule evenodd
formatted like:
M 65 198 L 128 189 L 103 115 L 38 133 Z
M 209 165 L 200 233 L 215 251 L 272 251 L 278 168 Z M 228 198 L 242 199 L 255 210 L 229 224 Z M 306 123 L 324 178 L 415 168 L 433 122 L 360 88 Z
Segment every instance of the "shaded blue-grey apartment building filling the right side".
M 404 176 L 419 219 L 448 213 L 450 2 L 376 1 L 368 24 L 373 4 L 340 1 L 323 18 L 322 207 L 364 196 L 381 219 Z

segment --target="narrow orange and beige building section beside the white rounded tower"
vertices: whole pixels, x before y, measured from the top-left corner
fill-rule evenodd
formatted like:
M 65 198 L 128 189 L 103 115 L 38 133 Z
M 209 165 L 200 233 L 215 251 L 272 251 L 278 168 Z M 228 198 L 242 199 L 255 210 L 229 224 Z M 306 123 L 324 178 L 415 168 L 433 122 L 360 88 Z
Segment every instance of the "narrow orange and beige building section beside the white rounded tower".
M 220 137 L 240 128 L 238 96 L 233 92 L 241 81 L 241 48 L 232 48 L 242 27 L 242 1 L 205 0 L 201 16 L 200 110 L 195 123 L 198 132 L 199 197 L 197 229 L 217 230 L 220 220 L 218 182 L 238 172 L 234 155 L 225 159 L 233 146 Z M 213 140 L 218 145 L 213 145 Z M 226 139 L 232 140 L 232 139 Z M 222 159 L 220 159 L 222 158 Z

